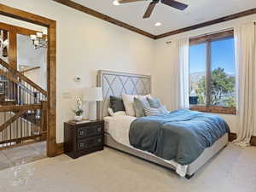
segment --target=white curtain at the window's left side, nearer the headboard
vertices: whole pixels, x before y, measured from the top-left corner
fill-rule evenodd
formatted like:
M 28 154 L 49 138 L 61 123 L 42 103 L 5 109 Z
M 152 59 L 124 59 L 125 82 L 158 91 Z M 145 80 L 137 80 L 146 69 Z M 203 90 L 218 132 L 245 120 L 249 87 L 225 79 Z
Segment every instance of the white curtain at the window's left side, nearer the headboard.
M 189 38 L 173 40 L 171 109 L 189 108 Z

